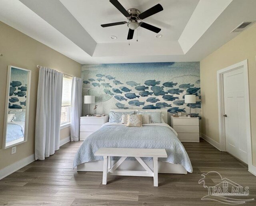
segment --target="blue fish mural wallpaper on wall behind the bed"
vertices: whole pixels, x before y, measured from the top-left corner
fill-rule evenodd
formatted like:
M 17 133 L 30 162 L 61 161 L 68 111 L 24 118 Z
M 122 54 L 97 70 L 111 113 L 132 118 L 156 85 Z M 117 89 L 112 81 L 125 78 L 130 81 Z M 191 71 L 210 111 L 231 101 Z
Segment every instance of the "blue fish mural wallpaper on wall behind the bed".
M 82 65 L 82 95 L 95 96 L 98 114 L 111 109 L 167 109 L 189 112 L 185 94 L 195 94 L 192 113 L 200 117 L 200 63 L 123 63 Z M 20 87 L 20 86 L 19 86 Z M 83 104 L 82 114 L 88 110 Z

